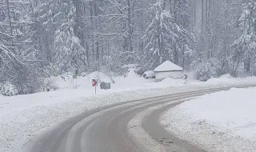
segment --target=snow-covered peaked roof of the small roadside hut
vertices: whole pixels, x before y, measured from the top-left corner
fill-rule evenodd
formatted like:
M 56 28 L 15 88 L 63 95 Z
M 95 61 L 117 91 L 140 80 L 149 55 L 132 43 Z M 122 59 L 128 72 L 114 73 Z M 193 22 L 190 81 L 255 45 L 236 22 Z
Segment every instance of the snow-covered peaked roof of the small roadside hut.
M 183 70 L 181 66 L 175 65 L 173 62 L 166 61 L 160 66 L 154 69 L 154 72 L 164 72 L 164 71 L 181 71 Z

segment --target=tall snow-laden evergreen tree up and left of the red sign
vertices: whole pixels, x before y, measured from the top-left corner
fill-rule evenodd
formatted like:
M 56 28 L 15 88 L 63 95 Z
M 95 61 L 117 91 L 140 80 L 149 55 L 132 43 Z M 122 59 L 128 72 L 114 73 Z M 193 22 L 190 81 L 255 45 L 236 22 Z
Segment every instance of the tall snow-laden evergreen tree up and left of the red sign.
M 58 64 L 62 70 L 78 70 L 82 65 L 81 58 L 84 49 L 80 46 L 80 40 L 74 35 L 74 17 L 75 7 L 72 1 L 62 3 L 58 18 L 62 21 L 62 25 L 54 34 L 54 62 Z

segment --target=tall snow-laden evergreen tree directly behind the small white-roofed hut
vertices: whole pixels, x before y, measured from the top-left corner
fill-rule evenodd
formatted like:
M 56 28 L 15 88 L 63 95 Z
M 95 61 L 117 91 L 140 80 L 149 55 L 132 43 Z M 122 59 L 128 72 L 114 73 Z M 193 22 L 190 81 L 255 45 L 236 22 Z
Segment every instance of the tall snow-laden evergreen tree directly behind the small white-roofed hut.
M 150 8 L 152 20 L 146 29 L 145 48 L 142 52 L 142 65 L 152 69 L 166 60 L 174 60 L 174 42 L 178 35 L 174 33 L 178 29 L 174 25 L 170 11 L 164 9 L 164 3 L 159 1 Z

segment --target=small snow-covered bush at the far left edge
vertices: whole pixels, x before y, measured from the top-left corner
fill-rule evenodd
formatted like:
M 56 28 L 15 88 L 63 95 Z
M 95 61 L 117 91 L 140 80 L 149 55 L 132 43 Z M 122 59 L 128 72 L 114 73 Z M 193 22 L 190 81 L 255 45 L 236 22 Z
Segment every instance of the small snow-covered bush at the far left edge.
M 2 82 L 0 83 L 0 94 L 14 96 L 18 94 L 18 90 L 10 82 Z

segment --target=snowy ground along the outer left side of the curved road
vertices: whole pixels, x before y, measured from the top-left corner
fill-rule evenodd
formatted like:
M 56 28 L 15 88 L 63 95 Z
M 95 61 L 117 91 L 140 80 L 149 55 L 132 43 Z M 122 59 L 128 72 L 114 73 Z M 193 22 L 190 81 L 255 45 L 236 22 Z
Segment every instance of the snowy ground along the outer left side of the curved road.
M 60 88 L 56 91 L 38 94 L 0 96 L 0 151 L 10 152 L 21 148 L 43 129 L 54 126 L 72 116 L 100 106 L 175 94 L 190 90 L 204 90 L 216 87 L 256 84 L 256 78 L 211 79 L 208 82 L 167 78 L 162 82 L 150 82 L 128 74 L 126 78 L 114 78 L 111 90 L 99 90 L 94 94 L 90 78 L 78 78 L 78 89 L 72 90 L 71 81 L 55 78 Z

